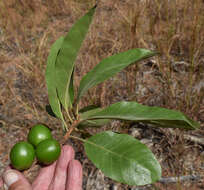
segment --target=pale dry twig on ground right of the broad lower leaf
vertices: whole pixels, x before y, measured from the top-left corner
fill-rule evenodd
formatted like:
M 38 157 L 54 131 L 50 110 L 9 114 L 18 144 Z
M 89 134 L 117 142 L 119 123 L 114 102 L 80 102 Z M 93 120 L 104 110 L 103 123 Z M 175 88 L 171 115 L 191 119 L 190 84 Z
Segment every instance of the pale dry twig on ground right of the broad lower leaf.
M 162 177 L 159 182 L 160 183 L 177 183 L 181 181 L 198 181 L 202 178 L 202 176 L 197 175 L 187 175 L 187 176 L 179 176 L 179 177 Z

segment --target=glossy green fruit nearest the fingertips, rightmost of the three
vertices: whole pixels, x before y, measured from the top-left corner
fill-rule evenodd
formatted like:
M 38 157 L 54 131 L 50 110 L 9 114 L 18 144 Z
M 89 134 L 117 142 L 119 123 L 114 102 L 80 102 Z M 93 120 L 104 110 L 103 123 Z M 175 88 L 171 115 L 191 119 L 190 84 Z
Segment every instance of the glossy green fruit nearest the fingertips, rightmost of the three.
M 36 147 L 36 157 L 40 163 L 45 165 L 53 163 L 60 156 L 60 144 L 55 139 L 47 139 Z

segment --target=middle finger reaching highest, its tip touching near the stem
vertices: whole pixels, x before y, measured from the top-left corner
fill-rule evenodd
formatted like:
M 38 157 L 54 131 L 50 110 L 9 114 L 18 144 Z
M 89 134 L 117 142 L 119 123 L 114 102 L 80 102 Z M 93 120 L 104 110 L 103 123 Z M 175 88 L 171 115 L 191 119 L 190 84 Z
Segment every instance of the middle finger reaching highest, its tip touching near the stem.
M 63 146 L 61 155 L 57 161 L 54 178 L 50 184 L 49 190 L 65 189 L 68 164 L 73 158 L 74 149 L 69 145 Z

